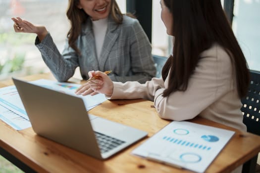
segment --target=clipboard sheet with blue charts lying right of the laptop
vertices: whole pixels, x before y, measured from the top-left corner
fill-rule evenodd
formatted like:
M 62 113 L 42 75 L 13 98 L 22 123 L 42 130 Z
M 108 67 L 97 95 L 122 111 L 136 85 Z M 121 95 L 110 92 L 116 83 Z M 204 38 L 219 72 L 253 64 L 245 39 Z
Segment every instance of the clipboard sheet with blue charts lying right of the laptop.
M 132 154 L 203 173 L 234 133 L 186 121 L 173 121 L 133 150 Z

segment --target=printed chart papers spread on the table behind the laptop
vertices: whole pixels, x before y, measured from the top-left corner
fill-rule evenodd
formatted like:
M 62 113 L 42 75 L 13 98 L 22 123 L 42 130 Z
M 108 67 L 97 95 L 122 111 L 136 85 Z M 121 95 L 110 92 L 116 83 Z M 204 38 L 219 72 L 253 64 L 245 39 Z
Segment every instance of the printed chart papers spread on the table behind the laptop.
M 106 100 L 104 94 L 96 94 L 94 96 L 76 95 L 75 90 L 80 87 L 79 84 L 60 83 L 45 79 L 32 81 L 31 83 L 81 97 L 85 103 L 86 111 L 89 111 Z M 31 127 L 31 123 L 15 86 L 0 88 L 0 119 L 15 130 L 23 130 Z

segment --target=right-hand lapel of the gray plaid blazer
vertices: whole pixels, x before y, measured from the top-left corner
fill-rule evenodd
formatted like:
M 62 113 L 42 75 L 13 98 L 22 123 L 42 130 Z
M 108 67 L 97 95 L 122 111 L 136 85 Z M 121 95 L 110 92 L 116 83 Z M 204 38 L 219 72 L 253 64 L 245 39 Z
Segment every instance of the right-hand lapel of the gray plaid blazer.
M 104 38 L 102 52 L 101 52 L 101 55 L 100 55 L 101 61 L 99 62 L 99 67 L 100 67 L 101 71 L 104 71 L 104 66 L 105 66 L 106 60 L 108 58 L 108 55 L 111 51 L 111 47 L 114 45 L 116 39 L 118 38 L 118 35 L 119 35 L 118 24 L 116 24 L 112 20 L 111 16 L 109 16 L 108 17 L 106 35 L 105 35 L 105 38 Z

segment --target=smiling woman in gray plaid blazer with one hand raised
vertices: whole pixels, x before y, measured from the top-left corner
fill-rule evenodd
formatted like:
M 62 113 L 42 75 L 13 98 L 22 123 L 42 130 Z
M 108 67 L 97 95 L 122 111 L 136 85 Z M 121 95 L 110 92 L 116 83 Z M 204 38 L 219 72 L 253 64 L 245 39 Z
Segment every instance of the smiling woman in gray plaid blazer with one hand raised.
M 44 26 L 35 26 L 21 18 L 12 18 L 15 32 L 36 33 L 36 46 L 55 78 L 64 82 L 74 75 L 76 67 L 84 80 L 89 71 L 112 70 L 112 81 L 145 83 L 156 74 L 151 43 L 137 19 L 123 15 L 115 0 L 69 0 L 67 17 L 71 28 L 62 53 Z M 94 22 L 105 19 L 94 30 Z M 103 43 L 103 46 L 100 44 Z M 97 46 L 101 47 L 97 52 Z M 99 53 L 99 55 L 98 55 Z

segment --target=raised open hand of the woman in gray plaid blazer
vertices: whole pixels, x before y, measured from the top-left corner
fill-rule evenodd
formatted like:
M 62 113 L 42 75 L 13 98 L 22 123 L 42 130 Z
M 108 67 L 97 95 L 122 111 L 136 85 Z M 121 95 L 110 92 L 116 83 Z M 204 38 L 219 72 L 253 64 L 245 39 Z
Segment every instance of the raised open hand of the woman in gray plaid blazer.
M 37 34 L 40 42 L 48 34 L 48 31 L 44 26 L 33 25 L 26 20 L 22 20 L 20 17 L 12 17 L 11 19 L 14 22 L 13 28 L 16 33 L 35 33 Z

